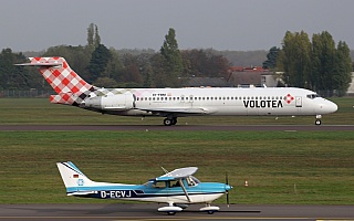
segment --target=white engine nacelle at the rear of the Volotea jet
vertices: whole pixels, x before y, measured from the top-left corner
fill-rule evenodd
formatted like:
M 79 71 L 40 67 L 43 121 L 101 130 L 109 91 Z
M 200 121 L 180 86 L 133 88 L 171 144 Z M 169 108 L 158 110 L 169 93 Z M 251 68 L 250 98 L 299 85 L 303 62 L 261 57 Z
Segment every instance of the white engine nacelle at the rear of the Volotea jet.
M 96 97 L 87 97 L 84 101 L 86 108 L 126 110 L 135 107 L 133 94 L 115 94 Z

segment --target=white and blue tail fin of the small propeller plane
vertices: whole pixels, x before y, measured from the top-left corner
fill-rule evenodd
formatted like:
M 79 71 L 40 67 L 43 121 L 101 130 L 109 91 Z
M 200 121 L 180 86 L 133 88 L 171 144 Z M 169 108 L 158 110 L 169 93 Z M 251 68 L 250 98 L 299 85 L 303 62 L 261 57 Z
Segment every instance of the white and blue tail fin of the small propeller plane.
M 66 193 L 70 194 L 79 194 L 82 191 L 81 189 L 84 187 L 94 186 L 94 181 L 90 180 L 73 162 L 56 162 L 60 175 L 63 179 L 63 182 L 66 188 Z

